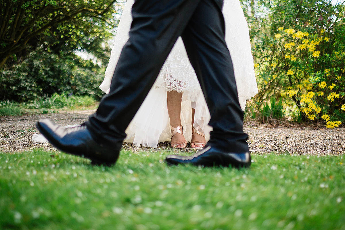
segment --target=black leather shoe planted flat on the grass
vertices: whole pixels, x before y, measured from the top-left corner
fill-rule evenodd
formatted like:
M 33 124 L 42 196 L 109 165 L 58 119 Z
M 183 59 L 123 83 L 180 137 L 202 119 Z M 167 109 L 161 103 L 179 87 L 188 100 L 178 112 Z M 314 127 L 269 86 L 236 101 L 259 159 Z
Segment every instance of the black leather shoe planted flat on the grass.
M 169 155 L 165 158 L 169 165 L 193 164 L 195 166 L 206 167 L 249 167 L 251 163 L 250 153 L 231 153 L 219 151 L 214 147 L 206 147 L 190 157 Z

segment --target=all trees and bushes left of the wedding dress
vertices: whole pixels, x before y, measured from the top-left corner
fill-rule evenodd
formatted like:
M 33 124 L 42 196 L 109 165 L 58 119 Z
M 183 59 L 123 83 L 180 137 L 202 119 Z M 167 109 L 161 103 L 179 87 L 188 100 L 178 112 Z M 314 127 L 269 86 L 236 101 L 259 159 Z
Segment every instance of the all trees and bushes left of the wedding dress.
M 53 93 L 92 96 L 110 56 L 121 12 L 115 0 L 10 0 L 0 3 L 0 100 Z M 93 55 L 83 60 L 76 51 Z

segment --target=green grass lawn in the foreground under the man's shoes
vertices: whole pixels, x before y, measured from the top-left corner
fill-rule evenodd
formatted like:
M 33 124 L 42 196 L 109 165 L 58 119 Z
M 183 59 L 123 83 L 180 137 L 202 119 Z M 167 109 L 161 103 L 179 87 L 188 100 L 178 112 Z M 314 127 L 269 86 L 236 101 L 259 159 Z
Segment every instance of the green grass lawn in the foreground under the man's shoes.
M 345 158 L 253 154 L 250 169 L 169 167 L 121 151 L 113 167 L 0 153 L 0 229 L 345 229 Z

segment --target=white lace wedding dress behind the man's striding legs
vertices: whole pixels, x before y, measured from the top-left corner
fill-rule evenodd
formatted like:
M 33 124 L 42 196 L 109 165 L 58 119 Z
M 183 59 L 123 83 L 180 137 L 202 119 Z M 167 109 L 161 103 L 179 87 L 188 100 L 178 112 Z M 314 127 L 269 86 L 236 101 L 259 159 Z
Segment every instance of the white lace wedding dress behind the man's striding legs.
M 105 78 L 100 85 L 100 88 L 106 93 L 109 93 L 111 78 L 122 47 L 128 40 L 133 3 L 134 0 L 127 0 L 125 3 L 117 28 Z M 225 37 L 234 65 L 239 102 L 244 110 L 246 100 L 258 92 L 248 25 L 239 0 L 225 0 L 223 14 L 226 26 Z M 187 57 L 183 41 L 179 38 L 164 63 L 154 86 L 129 124 L 125 141 L 133 142 L 137 146 L 141 144 L 156 148 L 158 142 L 170 140 L 167 91 L 183 92 L 181 121 L 186 140 L 191 140 L 191 108 L 195 109 L 194 127 L 200 126 L 204 130 L 206 140 L 209 139 L 211 127 L 207 124 L 210 114 L 194 69 Z

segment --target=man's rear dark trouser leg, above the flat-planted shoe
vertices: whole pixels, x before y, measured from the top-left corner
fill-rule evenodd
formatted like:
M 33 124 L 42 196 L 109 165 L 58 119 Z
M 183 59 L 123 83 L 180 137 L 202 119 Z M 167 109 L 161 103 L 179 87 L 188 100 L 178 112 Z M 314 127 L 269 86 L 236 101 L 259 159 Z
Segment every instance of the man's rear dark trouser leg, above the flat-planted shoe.
M 243 111 L 225 42 L 222 0 L 201 0 L 182 38 L 210 111 L 213 127 L 207 145 L 225 152 L 248 152 Z M 231 31 L 227 31 L 231 32 Z

